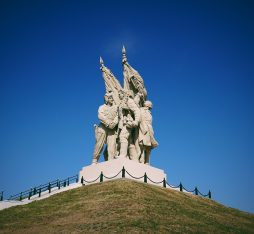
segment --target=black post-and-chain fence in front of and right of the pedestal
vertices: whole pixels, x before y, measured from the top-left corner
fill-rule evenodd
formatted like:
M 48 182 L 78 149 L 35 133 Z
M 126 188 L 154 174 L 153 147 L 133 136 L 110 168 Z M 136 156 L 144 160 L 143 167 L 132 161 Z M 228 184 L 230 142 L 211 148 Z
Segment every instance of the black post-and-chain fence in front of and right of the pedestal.
M 114 179 L 114 178 L 116 178 L 120 173 L 122 173 L 122 178 L 125 178 L 125 177 L 126 177 L 126 174 L 127 174 L 127 175 L 129 175 L 131 178 L 136 179 L 136 180 L 144 179 L 144 183 L 147 183 L 147 181 L 149 180 L 149 181 L 150 181 L 151 183 L 153 183 L 153 184 L 162 184 L 162 186 L 163 186 L 164 188 L 166 188 L 167 185 L 168 185 L 170 188 L 173 188 L 173 189 L 179 188 L 179 190 L 180 190 L 181 192 L 186 191 L 186 192 L 192 193 L 192 194 L 194 194 L 194 195 L 200 195 L 200 196 L 202 196 L 202 197 L 209 197 L 210 199 L 212 198 L 212 193 L 211 193 L 210 190 L 208 191 L 207 194 L 203 194 L 203 193 L 201 193 L 201 192 L 198 190 L 197 187 L 195 187 L 195 189 L 193 189 L 193 190 L 188 190 L 188 189 L 186 189 L 186 188 L 182 185 L 182 183 L 180 183 L 178 186 L 172 186 L 172 185 L 170 185 L 170 184 L 166 181 L 165 178 L 164 178 L 162 181 L 153 181 L 152 179 L 150 179 L 150 178 L 147 176 L 146 173 L 145 173 L 143 176 L 135 177 L 135 176 L 131 175 L 128 171 L 126 171 L 126 169 L 125 169 L 124 167 L 122 168 L 121 171 L 119 171 L 116 175 L 114 175 L 114 176 L 112 176 L 112 177 L 107 177 L 107 176 L 105 176 L 105 175 L 103 174 L 103 172 L 101 172 L 101 174 L 100 174 L 97 178 L 95 178 L 94 180 L 87 181 L 87 180 L 85 180 L 84 177 L 82 176 L 82 177 L 81 177 L 81 184 L 82 184 L 82 185 L 85 185 L 85 184 L 89 184 L 89 183 L 94 183 L 94 182 L 96 182 L 97 180 L 99 180 L 99 182 L 103 182 L 103 178 L 106 178 L 106 179 L 108 179 L 108 180 Z

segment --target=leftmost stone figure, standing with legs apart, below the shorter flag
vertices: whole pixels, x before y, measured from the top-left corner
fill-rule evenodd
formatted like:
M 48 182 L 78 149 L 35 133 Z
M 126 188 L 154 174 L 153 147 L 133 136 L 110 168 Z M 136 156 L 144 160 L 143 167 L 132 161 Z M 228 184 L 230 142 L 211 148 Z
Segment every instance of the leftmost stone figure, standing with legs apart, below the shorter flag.
M 112 94 L 106 94 L 104 101 L 105 104 L 100 106 L 98 110 L 98 118 L 101 123 L 95 127 L 96 144 L 92 163 L 98 162 L 104 144 L 107 144 L 108 160 L 112 160 L 116 156 L 117 106 L 114 105 Z

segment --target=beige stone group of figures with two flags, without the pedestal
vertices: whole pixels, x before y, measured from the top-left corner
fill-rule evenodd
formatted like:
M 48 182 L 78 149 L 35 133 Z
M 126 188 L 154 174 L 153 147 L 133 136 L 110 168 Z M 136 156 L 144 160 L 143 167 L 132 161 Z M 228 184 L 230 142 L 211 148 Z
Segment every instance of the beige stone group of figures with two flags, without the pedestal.
M 92 164 L 97 163 L 104 149 L 105 161 L 119 157 L 149 164 L 151 150 L 158 146 L 152 127 L 152 102 L 140 74 L 127 62 L 122 49 L 124 86 L 100 58 L 106 94 L 99 107 L 99 126 L 95 125 L 96 144 Z

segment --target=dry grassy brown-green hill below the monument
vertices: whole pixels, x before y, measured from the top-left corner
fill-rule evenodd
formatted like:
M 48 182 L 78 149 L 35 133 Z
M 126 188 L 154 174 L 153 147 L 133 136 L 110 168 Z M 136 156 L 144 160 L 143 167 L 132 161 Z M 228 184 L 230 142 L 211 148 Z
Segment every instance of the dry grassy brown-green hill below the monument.
M 115 180 L 0 211 L 0 233 L 254 233 L 254 215 L 212 200 Z

